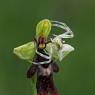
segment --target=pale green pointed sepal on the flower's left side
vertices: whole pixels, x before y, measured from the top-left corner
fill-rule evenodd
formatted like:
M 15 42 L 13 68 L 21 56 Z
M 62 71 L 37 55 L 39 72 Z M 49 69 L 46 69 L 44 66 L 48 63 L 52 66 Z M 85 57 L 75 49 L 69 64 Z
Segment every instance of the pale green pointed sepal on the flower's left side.
M 36 52 L 36 43 L 34 41 L 28 42 L 24 45 L 14 48 L 13 52 L 20 59 L 27 60 L 28 62 L 32 63 Z

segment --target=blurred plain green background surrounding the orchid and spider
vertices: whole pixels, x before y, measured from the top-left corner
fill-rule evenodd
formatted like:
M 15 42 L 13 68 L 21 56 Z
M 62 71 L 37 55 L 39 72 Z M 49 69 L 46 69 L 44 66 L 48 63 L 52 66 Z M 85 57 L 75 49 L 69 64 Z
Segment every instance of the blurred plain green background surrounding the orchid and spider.
M 95 0 L 0 0 L 0 95 L 32 95 L 29 64 L 12 50 L 31 41 L 44 18 L 65 22 L 75 34 L 67 40 L 75 51 L 55 74 L 60 95 L 95 95 Z

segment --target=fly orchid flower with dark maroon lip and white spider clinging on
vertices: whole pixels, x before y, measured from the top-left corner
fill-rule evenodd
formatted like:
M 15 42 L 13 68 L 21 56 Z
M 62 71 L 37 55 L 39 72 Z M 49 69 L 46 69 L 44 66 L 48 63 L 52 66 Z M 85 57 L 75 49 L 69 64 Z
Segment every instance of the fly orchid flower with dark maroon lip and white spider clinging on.
M 52 27 L 62 28 L 65 32 L 59 35 L 53 34 L 54 37 L 48 41 Z M 14 54 L 31 64 L 27 78 L 32 78 L 33 95 L 48 95 L 48 92 L 51 95 L 58 95 L 53 73 L 59 71 L 56 62 L 62 61 L 74 51 L 74 47 L 65 44 L 63 39 L 73 37 L 73 32 L 65 23 L 44 19 L 37 24 L 35 41 L 14 48 Z

